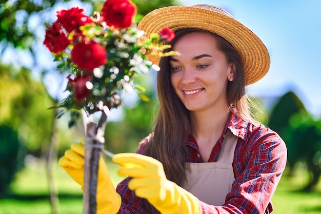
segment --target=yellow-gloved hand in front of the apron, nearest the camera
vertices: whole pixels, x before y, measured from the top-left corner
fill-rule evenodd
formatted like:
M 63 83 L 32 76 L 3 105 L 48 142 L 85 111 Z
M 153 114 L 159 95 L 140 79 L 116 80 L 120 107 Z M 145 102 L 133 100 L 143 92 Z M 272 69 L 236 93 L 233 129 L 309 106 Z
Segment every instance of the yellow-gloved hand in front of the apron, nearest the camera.
M 145 198 L 162 214 L 200 214 L 198 199 L 190 192 L 167 180 L 163 164 L 142 154 L 115 154 L 113 162 L 122 166 L 120 176 L 132 177 L 128 187 L 136 196 Z

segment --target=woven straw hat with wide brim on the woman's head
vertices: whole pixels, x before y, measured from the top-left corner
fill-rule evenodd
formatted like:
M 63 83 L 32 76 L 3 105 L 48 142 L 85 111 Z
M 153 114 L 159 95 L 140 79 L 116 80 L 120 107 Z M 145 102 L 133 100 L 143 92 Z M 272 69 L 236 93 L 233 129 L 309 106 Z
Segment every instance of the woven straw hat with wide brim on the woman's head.
M 242 57 L 246 85 L 261 79 L 270 68 L 270 55 L 263 42 L 221 8 L 205 4 L 164 7 L 148 13 L 138 23 L 138 29 L 147 36 L 159 34 L 164 27 L 174 31 L 196 28 L 224 37 Z M 160 57 L 149 55 L 148 59 L 158 65 Z

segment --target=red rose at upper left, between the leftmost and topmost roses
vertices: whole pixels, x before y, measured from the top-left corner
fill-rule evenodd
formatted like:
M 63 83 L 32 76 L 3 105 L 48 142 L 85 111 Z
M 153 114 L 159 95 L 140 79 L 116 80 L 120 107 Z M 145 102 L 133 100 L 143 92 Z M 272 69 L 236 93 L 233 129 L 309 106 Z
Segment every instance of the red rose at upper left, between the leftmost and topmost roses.
M 79 31 L 79 27 L 93 23 L 90 17 L 85 15 L 83 12 L 84 9 L 79 9 L 78 7 L 58 11 L 57 21 L 62 24 L 67 32 L 71 32 L 73 30 Z

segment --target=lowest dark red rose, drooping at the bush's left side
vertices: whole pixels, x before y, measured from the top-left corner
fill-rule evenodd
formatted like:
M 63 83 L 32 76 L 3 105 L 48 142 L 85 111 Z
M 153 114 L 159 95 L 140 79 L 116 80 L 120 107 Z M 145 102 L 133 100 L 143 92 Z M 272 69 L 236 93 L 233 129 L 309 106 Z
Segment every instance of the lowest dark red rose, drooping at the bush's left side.
M 68 78 L 67 89 L 72 89 L 75 99 L 81 102 L 90 94 L 90 89 L 87 88 L 86 82 L 90 81 L 91 76 L 89 75 L 76 75 L 75 79 L 72 80 L 70 76 Z

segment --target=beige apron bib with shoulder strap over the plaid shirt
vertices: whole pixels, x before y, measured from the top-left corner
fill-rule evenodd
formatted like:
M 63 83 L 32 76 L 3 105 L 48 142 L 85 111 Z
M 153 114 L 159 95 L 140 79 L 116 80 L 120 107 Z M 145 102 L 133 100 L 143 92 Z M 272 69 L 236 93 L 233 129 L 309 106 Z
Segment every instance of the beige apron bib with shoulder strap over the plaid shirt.
M 186 163 L 188 182 L 185 189 L 200 201 L 215 206 L 225 203 L 235 180 L 232 163 L 237 139 L 227 129 L 217 162 Z

